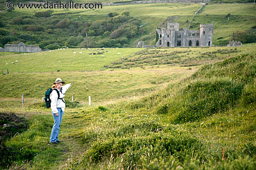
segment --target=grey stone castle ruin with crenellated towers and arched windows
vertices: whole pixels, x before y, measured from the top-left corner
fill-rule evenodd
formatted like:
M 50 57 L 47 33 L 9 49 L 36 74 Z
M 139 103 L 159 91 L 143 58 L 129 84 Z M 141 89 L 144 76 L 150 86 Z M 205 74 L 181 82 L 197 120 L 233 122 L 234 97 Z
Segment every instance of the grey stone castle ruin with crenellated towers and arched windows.
M 212 24 L 200 24 L 200 30 L 183 28 L 179 31 L 179 23 L 168 23 L 167 29 L 156 29 L 158 40 L 155 46 L 162 47 L 187 47 L 187 46 L 212 46 Z

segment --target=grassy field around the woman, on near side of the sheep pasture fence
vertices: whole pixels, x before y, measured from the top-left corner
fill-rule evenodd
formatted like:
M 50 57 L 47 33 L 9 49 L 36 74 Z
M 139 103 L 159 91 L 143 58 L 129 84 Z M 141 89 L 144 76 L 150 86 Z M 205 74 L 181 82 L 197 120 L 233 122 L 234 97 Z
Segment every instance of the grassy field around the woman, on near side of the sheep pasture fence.
M 253 46 L 148 49 L 113 66 L 132 66 L 143 56 L 161 60 L 101 72 L 1 75 L 0 112 L 13 111 L 29 127 L 13 132 L 6 153 L 16 155 L 16 167 L 29 170 L 255 169 Z M 173 56 L 175 65 L 158 63 Z M 198 65 L 185 66 L 189 57 Z M 71 94 L 86 97 L 67 102 L 59 137 L 64 142 L 53 146 L 47 142 L 52 116 L 37 93 L 56 76 L 73 85 L 66 101 Z M 19 93 L 27 89 L 22 107 Z

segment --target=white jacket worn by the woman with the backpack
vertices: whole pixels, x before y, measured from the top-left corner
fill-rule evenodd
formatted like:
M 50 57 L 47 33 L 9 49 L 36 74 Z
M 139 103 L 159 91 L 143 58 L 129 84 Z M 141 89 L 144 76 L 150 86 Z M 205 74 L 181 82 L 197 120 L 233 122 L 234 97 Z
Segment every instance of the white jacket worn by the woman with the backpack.
M 71 85 L 69 83 L 67 85 L 61 86 L 61 90 L 57 89 L 60 92 L 60 98 L 64 98 L 65 92 L 67 91 L 67 89 L 70 86 Z M 61 99 L 58 99 L 58 93 L 55 90 L 50 94 L 50 99 L 52 101 L 51 102 L 51 109 L 52 109 L 53 113 L 59 113 L 57 108 L 61 108 L 62 111 L 65 111 L 65 106 L 66 105 L 65 105 L 65 103 Z

